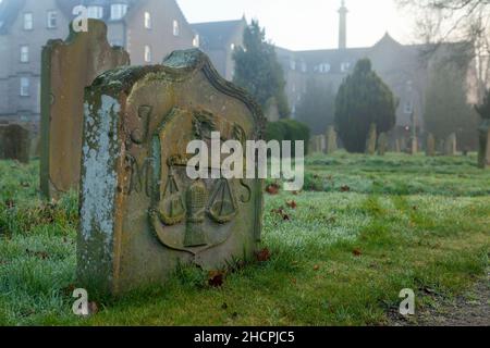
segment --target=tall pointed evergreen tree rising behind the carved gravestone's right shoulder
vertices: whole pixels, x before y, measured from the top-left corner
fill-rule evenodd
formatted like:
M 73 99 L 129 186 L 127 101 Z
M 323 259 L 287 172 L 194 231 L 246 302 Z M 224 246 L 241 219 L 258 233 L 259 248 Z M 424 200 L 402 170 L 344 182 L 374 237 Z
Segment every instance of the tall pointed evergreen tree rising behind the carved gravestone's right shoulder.
M 245 28 L 243 41 L 244 47 L 237 47 L 233 53 L 233 82 L 248 90 L 262 108 L 274 98 L 279 114 L 283 119 L 287 117 L 290 108 L 284 92 L 284 72 L 278 61 L 275 48 L 266 41 L 266 32 L 257 21 L 252 21 Z

